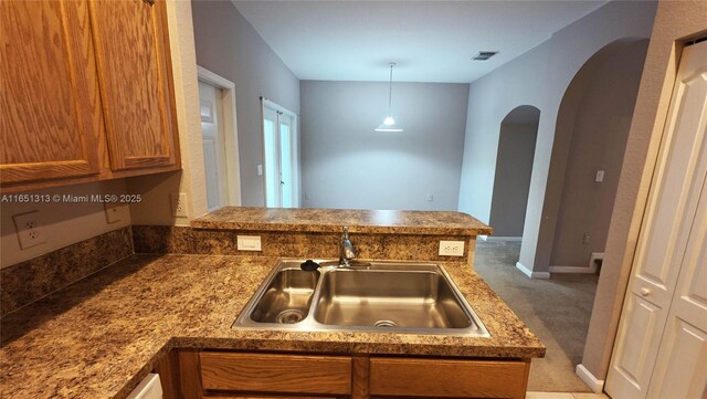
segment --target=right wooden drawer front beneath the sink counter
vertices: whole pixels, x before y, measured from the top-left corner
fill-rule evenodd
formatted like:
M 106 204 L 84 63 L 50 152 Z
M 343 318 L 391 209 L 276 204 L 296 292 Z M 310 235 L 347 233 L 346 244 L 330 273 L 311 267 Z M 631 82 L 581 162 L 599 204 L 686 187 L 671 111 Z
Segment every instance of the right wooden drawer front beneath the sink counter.
M 372 396 L 525 398 L 529 361 L 376 358 Z

